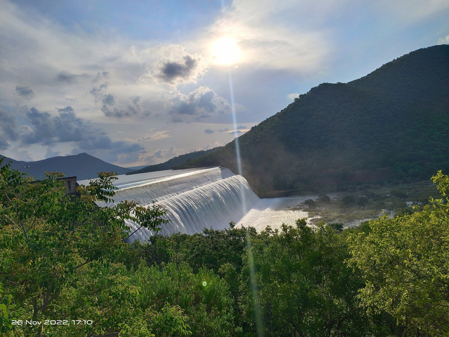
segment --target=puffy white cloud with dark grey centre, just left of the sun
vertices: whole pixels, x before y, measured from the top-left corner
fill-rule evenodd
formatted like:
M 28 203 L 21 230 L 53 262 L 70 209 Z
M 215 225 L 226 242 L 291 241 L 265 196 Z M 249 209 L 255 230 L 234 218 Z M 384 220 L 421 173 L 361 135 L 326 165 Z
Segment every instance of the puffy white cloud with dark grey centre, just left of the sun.
M 201 55 L 188 53 L 180 45 L 163 46 L 154 53 L 158 59 L 147 66 L 140 77 L 142 82 L 156 81 L 173 86 L 196 83 L 209 67 Z

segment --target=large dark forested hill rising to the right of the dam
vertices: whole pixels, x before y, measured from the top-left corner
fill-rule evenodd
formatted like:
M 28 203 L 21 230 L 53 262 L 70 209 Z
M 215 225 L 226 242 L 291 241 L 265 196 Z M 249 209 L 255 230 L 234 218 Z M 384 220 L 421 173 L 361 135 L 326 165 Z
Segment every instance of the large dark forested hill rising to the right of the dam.
M 240 136 L 259 195 L 449 169 L 449 45 L 418 49 L 361 79 L 322 83 Z M 178 168 L 227 164 L 235 143 Z

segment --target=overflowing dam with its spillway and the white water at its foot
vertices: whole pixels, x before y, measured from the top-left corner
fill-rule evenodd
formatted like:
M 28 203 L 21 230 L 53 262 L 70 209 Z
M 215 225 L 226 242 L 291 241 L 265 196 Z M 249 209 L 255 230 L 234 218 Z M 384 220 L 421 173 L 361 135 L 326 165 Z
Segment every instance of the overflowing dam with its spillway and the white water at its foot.
M 201 233 L 212 227 L 222 230 L 229 228 L 229 222 L 237 225 L 255 226 L 261 231 L 265 226 L 272 228 L 282 222 L 294 224 L 307 213 L 291 210 L 311 196 L 260 199 L 251 190 L 246 179 L 234 174 L 229 168 L 192 168 L 158 172 L 119 175 L 114 181 L 114 203 L 97 201 L 99 207 L 113 206 L 123 200 L 135 200 L 141 206 L 153 202 L 165 206 L 164 216 L 171 221 L 161 226 L 161 233 Z M 89 180 L 78 181 L 87 185 Z M 281 221 L 281 222 L 280 222 Z M 131 232 L 139 228 L 127 221 Z M 153 233 L 141 228 L 129 239 L 145 241 Z

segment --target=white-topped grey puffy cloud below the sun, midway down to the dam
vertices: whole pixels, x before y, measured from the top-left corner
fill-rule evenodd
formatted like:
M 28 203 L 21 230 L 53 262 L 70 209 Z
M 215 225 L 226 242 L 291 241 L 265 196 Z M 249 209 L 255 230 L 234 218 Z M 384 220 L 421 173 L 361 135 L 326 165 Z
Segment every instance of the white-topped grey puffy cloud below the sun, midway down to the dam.
M 172 122 L 203 120 L 212 116 L 231 112 L 228 100 L 205 86 L 201 86 L 188 95 L 177 91 L 171 98 L 174 104 L 169 111 Z

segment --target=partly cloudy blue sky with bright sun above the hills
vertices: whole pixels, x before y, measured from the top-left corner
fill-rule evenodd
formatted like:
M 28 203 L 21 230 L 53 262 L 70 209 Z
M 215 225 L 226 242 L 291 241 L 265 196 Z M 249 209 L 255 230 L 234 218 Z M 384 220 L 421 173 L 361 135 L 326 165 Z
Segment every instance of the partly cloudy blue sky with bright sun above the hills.
M 0 0 L 0 155 L 132 167 L 222 146 L 320 83 L 449 44 L 448 17 L 447 0 Z

